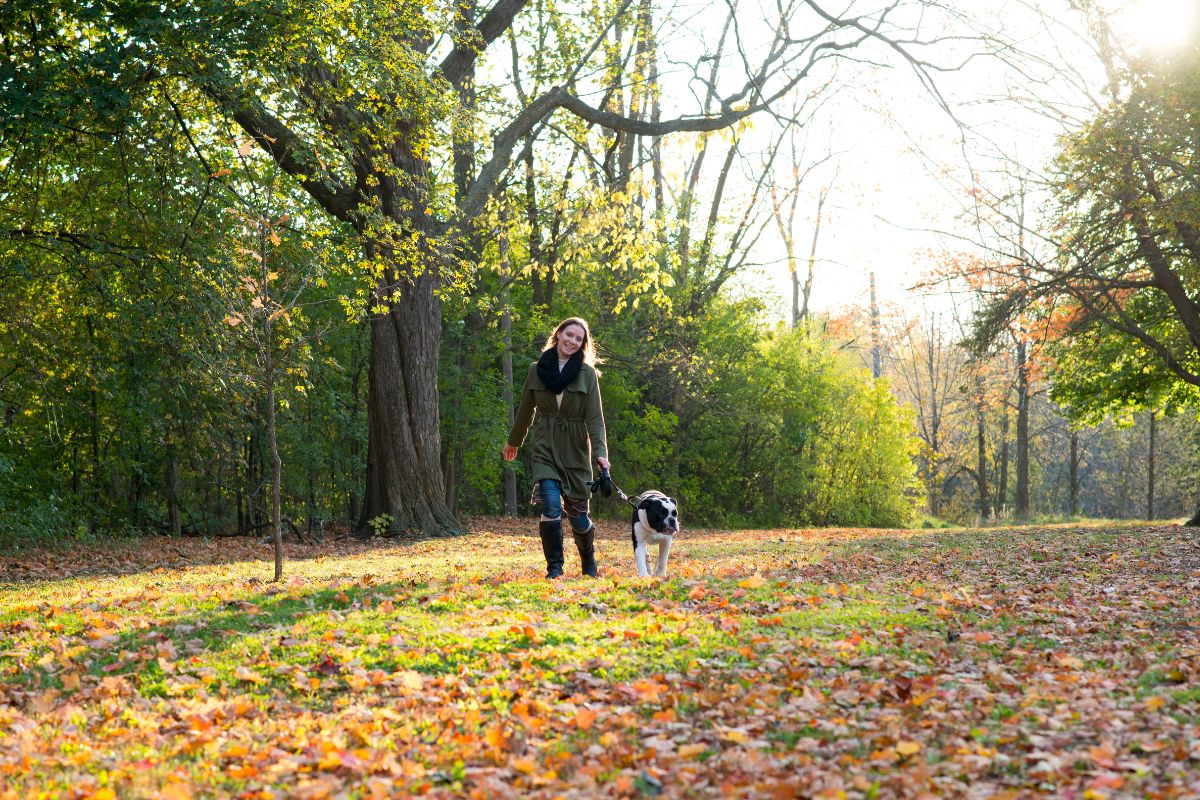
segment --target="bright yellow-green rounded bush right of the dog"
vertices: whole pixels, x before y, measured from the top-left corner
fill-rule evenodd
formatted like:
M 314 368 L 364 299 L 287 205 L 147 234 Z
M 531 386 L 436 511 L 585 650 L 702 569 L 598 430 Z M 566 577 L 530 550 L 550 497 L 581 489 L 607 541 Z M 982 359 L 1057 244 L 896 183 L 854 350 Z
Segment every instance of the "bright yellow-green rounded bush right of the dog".
M 752 347 L 736 357 L 706 354 L 719 366 L 706 367 L 685 477 L 702 503 L 756 524 L 902 525 L 916 439 L 887 386 L 820 336 L 743 335 Z

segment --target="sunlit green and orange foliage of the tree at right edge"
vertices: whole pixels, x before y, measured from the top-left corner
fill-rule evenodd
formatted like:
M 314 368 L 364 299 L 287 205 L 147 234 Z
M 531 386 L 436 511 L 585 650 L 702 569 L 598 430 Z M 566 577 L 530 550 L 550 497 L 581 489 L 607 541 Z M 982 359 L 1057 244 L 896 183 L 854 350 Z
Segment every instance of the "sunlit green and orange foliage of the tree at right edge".
M 1168 294 L 1174 282 L 1200 291 L 1198 66 L 1194 47 L 1130 65 L 1126 96 L 1066 138 L 1056 163 L 1073 290 L 1066 309 L 1046 312 L 1066 333 L 1050 341 L 1052 392 L 1091 423 L 1200 399 L 1200 330 Z

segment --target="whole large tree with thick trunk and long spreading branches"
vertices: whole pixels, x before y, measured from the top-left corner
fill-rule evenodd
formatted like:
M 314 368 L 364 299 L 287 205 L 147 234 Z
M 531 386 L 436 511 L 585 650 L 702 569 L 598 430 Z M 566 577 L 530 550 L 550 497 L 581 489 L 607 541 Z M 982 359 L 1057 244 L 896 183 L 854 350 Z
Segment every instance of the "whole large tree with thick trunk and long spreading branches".
M 485 121 L 482 112 L 476 116 L 485 94 L 476 85 L 478 62 L 528 7 L 557 13 L 550 6 L 497 0 L 476 11 L 463 2 L 439 14 L 407 0 L 166 10 L 138 0 L 8 2 L 0 7 L 0 24 L 11 35 L 6 59 L 17 68 L 6 74 L 4 95 L 17 108 L 10 130 L 35 119 L 70 125 L 88 104 L 103 116 L 150 91 L 186 96 L 173 109 L 198 155 L 209 146 L 203 139 L 212 121 L 232 121 L 298 191 L 352 230 L 373 284 L 359 527 L 370 530 L 371 521 L 388 518 L 391 530 L 444 533 L 458 529 L 446 503 L 438 423 L 444 293 L 469 273 L 479 252 L 474 222 L 518 145 L 530 146 L 552 119 L 565 115 L 610 131 L 618 154 L 611 163 L 625 174 L 635 137 L 730 127 L 814 82 L 824 62 L 856 52 L 887 53 L 928 78 L 929 62 L 916 50 L 931 42 L 908 41 L 894 22 L 901 5 L 836 16 L 816 2 L 785 4 L 760 47 L 738 41 L 739 60 L 726 58 L 708 73 L 697 68 L 707 110 L 680 108 L 664 119 L 658 110 L 644 115 L 584 100 L 593 89 L 611 96 L 626 77 L 616 68 L 622 60 L 614 62 L 601 47 L 606 37 L 652 18 L 648 6 L 630 0 L 601 4 L 592 29 L 554 41 L 566 54 L 548 65 L 558 82 L 524 103 L 493 102 Z M 731 6 L 731 20 L 734 12 Z M 739 28 L 726 28 L 737 40 Z M 641 46 L 637 52 L 647 54 Z M 581 77 L 598 54 L 613 68 Z M 58 106 L 62 95 L 54 94 L 64 88 L 76 100 L 66 113 Z M 133 118 L 122 122 L 138 125 Z M 466 146 L 478 124 L 492 128 L 490 150 Z M 440 179 L 444 163 L 451 163 L 452 181 Z

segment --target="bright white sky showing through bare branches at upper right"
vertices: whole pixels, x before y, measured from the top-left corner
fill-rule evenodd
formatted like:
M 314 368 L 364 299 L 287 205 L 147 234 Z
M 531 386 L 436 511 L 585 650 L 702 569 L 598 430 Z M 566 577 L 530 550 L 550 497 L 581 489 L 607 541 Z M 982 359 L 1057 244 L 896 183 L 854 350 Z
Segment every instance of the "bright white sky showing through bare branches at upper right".
M 730 7 L 737 8 L 737 25 L 727 37 L 725 72 L 718 82 L 722 96 L 744 84 L 745 70 L 739 59 L 757 64 L 769 48 L 779 29 L 781 6 L 796 8 L 788 29 L 793 37 L 821 26 L 810 0 L 662 1 L 655 11 L 655 36 L 664 119 L 701 110 L 701 78 L 708 76 L 708 58 L 716 50 Z M 815 1 L 830 12 L 853 16 L 890 6 L 895 0 Z M 1200 26 L 1200 0 L 1098 1 L 1112 10 L 1117 35 L 1144 50 L 1169 50 L 1194 36 Z M 1019 73 L 998 58 L 968 58 L 979 46 L 972 37 L 955 38 L 964 32 L 962 20 L 953 16 L 955 4 L 971 18 L 973 31 L 1016 42 L 1040 62 L 1022 59 Z M 828 186 L 811 296 L 818 312 L 865 306 L 872 272 L 884 307 L 912 309 L 914 315 L 922 306 L 947 307 L 947 296 L 916 294 L 913 287 L 928 278 L 941 254 L 972 249 L 967 240 L 974 231 L 965 210 L 973 181 L 991 180 L 989 174 L 995 174 L 1006 158 L 1043 170 L 1054 156 L 1057 137 L 1096 113 L 1084 86 L 1094 91 L 1103 73 L 1087 52 L 1090 38 L 1084 20 L 1068 10 L 1068 0 L 938 0 L 935 5 L 950 7 L 952 13 L 930 11 L 918 0 L 904 0 L 893 29 L 901 37 L 908 36 L 919 22 L 922 38 L 938 40 L 925 48 L 911 46 L 932 64 L 955 67 L 932 71 L 935 90 L 923 85 L 908 66 L 881 46 L 847 50 L 854 60 L 841 62 L 835 72 L 817 68 L 800 84 L 802 92 L 811 92 L 809 108 L 816 108 L 802 128 L 805 158 L 830 156 L 802 185 L 793 227 L 797 255 L 803 261 L 811 242 L 817 194 Z M 558 8 L 581 28 L 595 25 L 588 4 Z M 606 85 L 595 72 L 602 61 L 599 56 L 593 55 L 575 86 L 593 103 L 600 102 Z M 503 73 L 510 66 L 509 56 L 497 52 L 490 68 L 500 73 L 497 77 L 502 86 L 506 83 Z M 827 80 L 829 84 L 822 89 Z M 528 83 L 527 77 L 526 90 Z M 1042 108 L 1036 110 L 1037 103 Z M 780 126 L 770 116 L 751 118 L 742 145 L 745 157 L 734 169 L 722 204 L 730 217 L 740 213 L 763 170 L 762 154 L 779 136 Z M 695 148 L 694 134 L 665 138 L 668 186 L 683 186 Z M 724 151 L 718 150 L 706 162 L 698 191 L 706 212 L 722 157 Z M 788 184 L 786 173 L 781 170 L 778 181 L 781 188 Z M 649 181 L 648 167 L 644 180 Z M 698 216 L 702 222 L 703 215 Z M 696 224 L 694 221 L 694 228 Z M 768 297 L 776 317 L 786 318 L 791 285 L 784 243 L 774 223 L 767 225 L 749 260 L 752 266 L 739 277 L 743 290 Z

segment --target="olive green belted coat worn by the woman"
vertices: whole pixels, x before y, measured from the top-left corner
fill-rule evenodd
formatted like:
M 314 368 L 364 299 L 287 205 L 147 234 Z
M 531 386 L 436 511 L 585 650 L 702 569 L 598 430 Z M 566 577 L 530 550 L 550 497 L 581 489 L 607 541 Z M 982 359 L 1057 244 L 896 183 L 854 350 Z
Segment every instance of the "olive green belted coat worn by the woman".
M 592 464 L 596 458 L 608 457 L 600 378 L 595 368 L 587 363 L 580 367 L 580 374 L 563 390 L 563 404 L 559 405 L 554 393 L 538 377 L 538 362 L 530 363 L 509 444 L 520 447 L 534 421 L 534 483 L 553 479 L 562 485 L 566 497 L 587 500 Z

